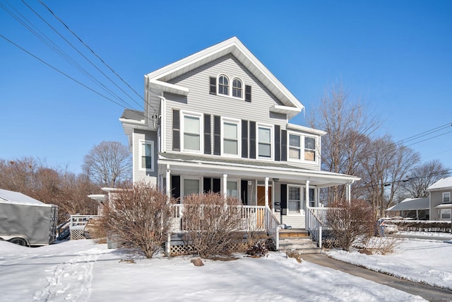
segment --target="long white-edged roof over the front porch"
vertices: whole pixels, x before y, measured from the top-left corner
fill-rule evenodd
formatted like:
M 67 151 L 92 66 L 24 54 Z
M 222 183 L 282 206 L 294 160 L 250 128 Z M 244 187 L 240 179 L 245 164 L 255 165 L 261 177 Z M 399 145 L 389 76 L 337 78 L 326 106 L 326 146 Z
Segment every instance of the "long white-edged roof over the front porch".
M 278 179 L 278 181 L 289 183 L 304 183 L 309 180 L 309 185 L 316 187 L 345 185 L 360 179 L 352 175 L 300 168 L 286 162 L 218 158 L 181 153 L 159 153 L 158 165 L 159 173 L 162 174 L 165 173 L 166 165 L 169 165 L 172 174 L 218 178 L 227 174 L 228 178 L 256 180 L 264 180 L 268 177 L 270 181 Z

